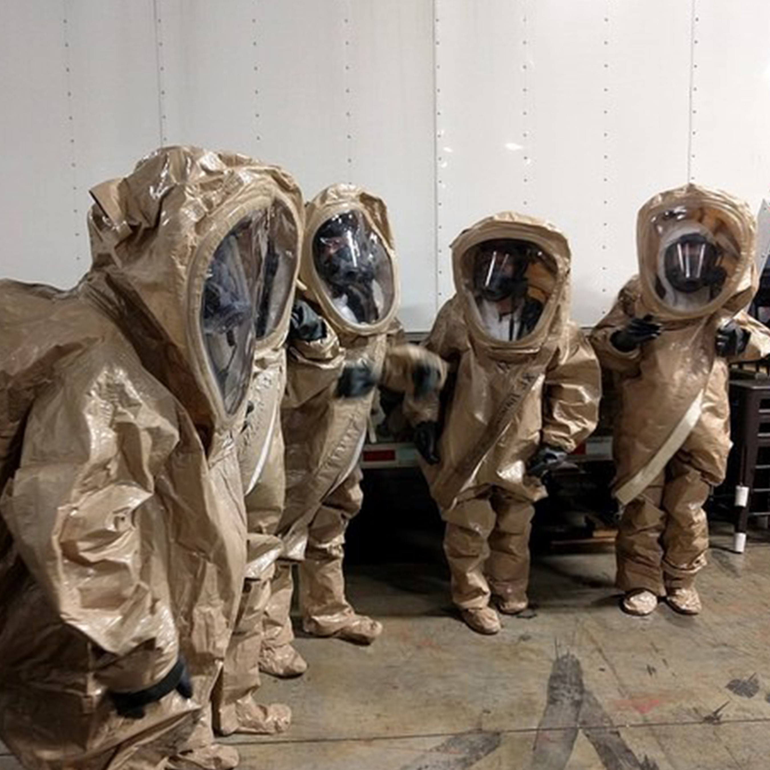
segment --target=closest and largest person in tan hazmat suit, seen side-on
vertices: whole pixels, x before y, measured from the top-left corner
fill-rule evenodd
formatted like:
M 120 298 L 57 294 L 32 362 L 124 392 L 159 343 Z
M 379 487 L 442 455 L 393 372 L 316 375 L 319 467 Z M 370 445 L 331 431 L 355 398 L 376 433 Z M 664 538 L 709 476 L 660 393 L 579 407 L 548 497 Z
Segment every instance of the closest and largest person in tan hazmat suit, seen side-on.
M 27 768 L 236 765 L 209 708 L 246 567 L 235 433 L 295 190 L 160 149 L 92 190 L 75 289 L 0 283 L 0 737 Z

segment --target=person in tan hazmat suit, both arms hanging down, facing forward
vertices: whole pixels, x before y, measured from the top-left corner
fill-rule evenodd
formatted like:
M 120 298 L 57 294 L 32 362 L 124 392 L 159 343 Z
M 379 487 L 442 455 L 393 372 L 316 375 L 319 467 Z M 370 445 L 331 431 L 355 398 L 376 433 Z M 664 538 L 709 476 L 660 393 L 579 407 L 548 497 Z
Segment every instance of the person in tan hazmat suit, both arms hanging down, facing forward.
M 570 250 L 553 226 L 500 213 L 452 244 L 457 293 L 425 341 L 449 385 L 407 399 L 430 492 L 446 522 L 452 600 L 480 634 L 527 608 L 533 504 L 543 477 L 596 427 L 601 377 L 569 320 Z

